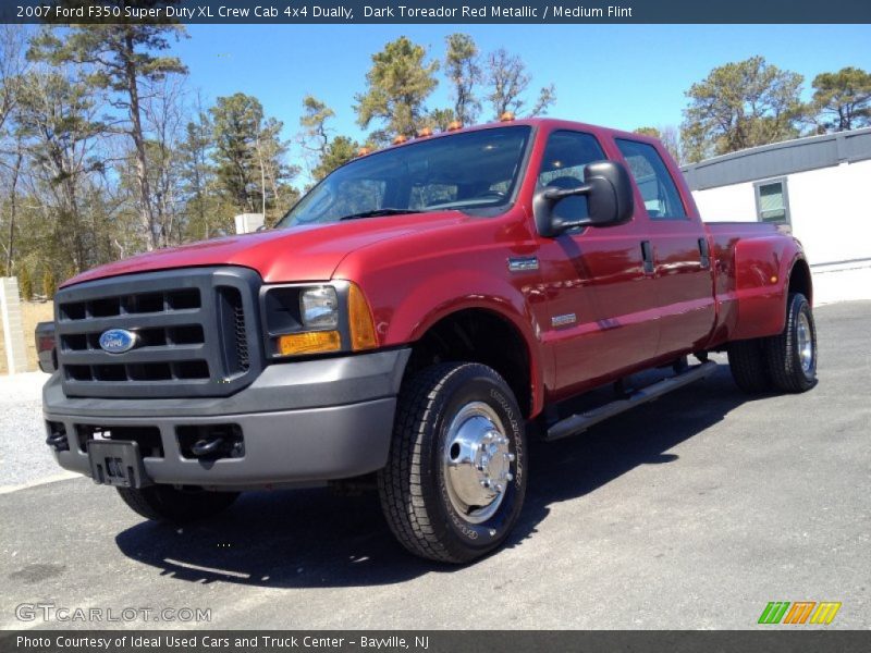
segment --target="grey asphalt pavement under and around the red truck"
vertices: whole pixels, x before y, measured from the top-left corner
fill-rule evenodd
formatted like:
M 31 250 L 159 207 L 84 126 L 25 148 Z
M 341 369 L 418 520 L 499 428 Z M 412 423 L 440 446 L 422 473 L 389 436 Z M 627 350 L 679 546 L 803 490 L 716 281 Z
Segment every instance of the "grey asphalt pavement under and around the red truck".
M 818 321 L 806 395 L 748 401 L 723 367 L 533 446 L 510 546 L 466 568 L 406 555 L 373 496 L 254 493 L 176 531 L 85 479 L 0 494 L 0 627 L 44 627 L 14 609 L 49 601 L 207 607 L 222 628 L 752 628 L 769 601 L 827 600 L 831 627 L 869 628 L 871 303 Z

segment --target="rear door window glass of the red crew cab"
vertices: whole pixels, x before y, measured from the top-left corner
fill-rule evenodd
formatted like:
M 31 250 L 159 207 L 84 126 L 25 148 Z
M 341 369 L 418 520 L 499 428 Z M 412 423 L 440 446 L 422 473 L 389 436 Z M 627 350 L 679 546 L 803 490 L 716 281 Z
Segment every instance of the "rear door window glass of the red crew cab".
M 641 192 L 648 215 L 653 220 L 686 218 L 680 194 L 657 148 L 647 143 L 619 138 L 617 147 L 629 164 L 629 172 Z

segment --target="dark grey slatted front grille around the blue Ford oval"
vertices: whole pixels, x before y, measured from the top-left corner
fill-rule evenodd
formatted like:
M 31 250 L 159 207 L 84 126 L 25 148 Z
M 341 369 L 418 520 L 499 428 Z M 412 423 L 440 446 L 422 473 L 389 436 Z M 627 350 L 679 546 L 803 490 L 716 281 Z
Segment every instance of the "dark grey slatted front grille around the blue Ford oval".
M 99 280 L 57 295 L 58 361 L 69 396 L 224 396 L 260 368 L 259 276 L 237 268 Z M 110 329 L 136 336 L 110 354 Z

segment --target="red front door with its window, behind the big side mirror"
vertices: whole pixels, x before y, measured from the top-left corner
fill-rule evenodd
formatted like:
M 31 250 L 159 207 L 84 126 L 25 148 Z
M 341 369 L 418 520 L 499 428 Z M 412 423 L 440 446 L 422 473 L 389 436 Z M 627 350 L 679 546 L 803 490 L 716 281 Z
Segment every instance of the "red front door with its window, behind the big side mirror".
M 571 188 L 584 182 L 584 167 L 606 159 L 594 136 L 556 131 L 548 139 L 539 187 Z M 542 283 L 550 323 L 542 341 L 554 357 L 555 397 L 598 385 L 654 357 L 659 325 L 657 299 L 645 273 L 643 207 L 619 226 L 566 232 L 539 239 Z M 587 199 L 567 197 L 554 207 L 575 220 L 587 214 Z

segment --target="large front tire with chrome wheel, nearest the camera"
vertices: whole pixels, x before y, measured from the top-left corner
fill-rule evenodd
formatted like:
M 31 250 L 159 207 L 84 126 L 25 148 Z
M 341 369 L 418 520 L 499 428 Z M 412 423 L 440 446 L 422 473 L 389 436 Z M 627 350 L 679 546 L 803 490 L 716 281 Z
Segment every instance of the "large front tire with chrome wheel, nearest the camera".
M 526 473 L 524 417 L 494 370 L 442 364 L 403 384 L 378 486 L 408 551 L 454 564 L 493 551 L 520 514 Z

